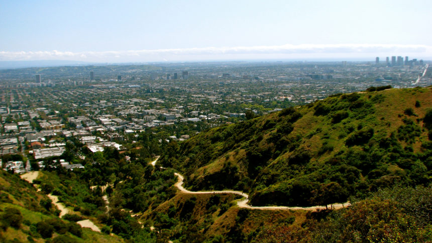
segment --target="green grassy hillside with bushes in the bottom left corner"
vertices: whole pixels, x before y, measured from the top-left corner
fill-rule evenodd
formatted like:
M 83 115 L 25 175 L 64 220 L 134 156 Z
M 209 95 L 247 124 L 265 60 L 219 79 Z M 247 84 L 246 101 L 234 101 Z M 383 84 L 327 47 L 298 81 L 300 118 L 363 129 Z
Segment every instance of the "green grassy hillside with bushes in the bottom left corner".
M 58 213 L 32 184 L 0 170 L 0 242 L 123 242 L 60 219 Z

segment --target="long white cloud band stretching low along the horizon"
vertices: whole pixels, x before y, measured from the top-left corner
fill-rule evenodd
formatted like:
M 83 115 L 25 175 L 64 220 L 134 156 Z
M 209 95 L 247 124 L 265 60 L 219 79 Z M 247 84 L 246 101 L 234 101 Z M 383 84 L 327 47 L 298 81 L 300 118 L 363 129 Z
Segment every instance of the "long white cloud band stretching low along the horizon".
M 0 51 L 1 61 L 74 60 L 90 62 L 148 62 L 235 59 L 370 58 L 375 56 L 432 57 L 432 46 L 399 44 L 301 44 L 252 47 L 207 47 L 102 52 Z

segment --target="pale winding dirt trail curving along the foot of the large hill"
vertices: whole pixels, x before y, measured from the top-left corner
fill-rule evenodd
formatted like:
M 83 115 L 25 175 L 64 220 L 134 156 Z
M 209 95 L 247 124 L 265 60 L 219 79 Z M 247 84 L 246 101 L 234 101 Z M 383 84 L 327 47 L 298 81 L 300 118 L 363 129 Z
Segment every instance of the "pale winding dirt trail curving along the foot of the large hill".
M 155 166 L 156 161 L 159 159 L 159 156 L 151 162 L 153 166 Z M 162 167 L 161 167 L 162 168 Z M 316 211 L 316 210 L 322 210 L 326 208 L 333 207 L 334 209 L 339 209 L 343 207 L 350 206 L 350 202 L 346 203 L 336 203 L 336 204 L 329 204 L 326 206 L 311 206 L 311 207 L 286 207 L 286 206 L 251 206 L 248 204 L 249 202 L 249 195 L 242 192 L 242 191 L 232 191 L 232 190 L 224 190 L 224 191 L 189 191 L 183 187 L 183 179 L 184 177 L 180 175 L 179 173 L 174 173 L 174 175 L 177 176 L 177 182 L 174 184 L 175 187 L 177 187 L 181 192 L 188 193 L 188 194 L 237 194 L 245 199 L 237 201 L 237 205 L 242 208 L 248 208 L 248 209 L 258 209 L 258 210 L 308 210 L 308 211 Z

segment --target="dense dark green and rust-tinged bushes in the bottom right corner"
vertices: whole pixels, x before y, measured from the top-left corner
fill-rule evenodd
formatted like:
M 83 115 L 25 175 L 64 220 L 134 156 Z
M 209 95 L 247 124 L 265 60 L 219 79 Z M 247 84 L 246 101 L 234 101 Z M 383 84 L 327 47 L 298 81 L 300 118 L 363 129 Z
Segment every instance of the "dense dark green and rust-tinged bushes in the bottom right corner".
M 307 213 L 302 227 L 264 228 L 257 242 L 430 242 L 430 186 L 396 186 L 346 209 Z

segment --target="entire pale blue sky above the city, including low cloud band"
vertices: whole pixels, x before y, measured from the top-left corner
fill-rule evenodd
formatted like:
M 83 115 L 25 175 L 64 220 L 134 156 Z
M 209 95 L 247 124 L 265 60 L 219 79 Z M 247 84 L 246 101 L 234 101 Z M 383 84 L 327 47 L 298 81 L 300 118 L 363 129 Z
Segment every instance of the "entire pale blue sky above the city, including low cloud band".
M 432 1 L 0 0 L 0 61 L 432 60 Z

